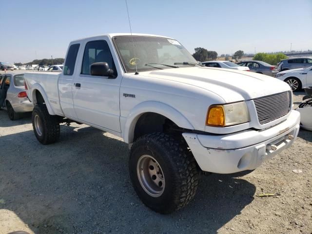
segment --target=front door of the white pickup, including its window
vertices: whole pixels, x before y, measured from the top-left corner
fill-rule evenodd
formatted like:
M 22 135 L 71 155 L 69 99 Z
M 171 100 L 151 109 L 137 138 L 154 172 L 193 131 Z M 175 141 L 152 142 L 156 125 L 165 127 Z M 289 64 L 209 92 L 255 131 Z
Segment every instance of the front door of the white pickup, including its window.
M 81 67 L 73 83 L 74 108 L 78 119 L 120 133 L 119 88 L 121 74 L 117 74 L 111 49 L 103 38 L 85 44 Z M 114 78 L 90 75 L 90 65 L 107 62 L 114 70 Z M 106 131 L 107 131 L 106 130 Z

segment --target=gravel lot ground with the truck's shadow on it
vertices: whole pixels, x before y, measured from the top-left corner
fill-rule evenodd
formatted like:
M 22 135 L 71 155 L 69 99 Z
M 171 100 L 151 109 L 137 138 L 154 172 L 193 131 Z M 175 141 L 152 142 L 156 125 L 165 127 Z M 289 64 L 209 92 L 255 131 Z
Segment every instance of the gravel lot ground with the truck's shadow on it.
M 11 121 L 1 110 L 0 234 L 312 233 L 312 132 L 249 175 L 202 176 L 195 199 L 171 215 L 137 198 L 128 154 L 120 138 L 78 124 L 41 145 L 30 116 Z

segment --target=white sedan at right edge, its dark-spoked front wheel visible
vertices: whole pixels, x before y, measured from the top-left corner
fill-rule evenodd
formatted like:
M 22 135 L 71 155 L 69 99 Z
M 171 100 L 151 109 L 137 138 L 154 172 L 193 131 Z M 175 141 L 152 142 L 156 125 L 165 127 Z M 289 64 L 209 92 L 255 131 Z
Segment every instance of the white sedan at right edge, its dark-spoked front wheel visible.
M 292 91 L 300 90 L 305 86 L 312 86 L 312 66 L 279 72 L 275 78 L 285 81 Z

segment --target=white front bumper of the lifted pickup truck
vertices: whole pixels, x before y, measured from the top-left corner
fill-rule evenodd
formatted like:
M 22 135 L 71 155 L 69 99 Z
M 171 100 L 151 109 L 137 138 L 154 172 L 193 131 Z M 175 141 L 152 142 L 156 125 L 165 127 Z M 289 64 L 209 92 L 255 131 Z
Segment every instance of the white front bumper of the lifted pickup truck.
M 292 110 L 283 122 L 263 130 L 227 135 L 183 133 L 199 167 L 206 172 L 230 174 L 259 167 L 290 147 L 299 132 L 300 113 Z

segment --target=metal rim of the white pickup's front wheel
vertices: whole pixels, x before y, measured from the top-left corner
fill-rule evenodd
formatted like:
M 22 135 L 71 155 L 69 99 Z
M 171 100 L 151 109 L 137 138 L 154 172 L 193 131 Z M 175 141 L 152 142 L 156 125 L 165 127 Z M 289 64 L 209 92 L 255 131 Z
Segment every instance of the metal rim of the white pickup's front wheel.
M 157 162 L 150 155 L 142 155 L 137 161 L 137 177 L 143 190 L 150 196 L 159 197 L 165 190 L 165 176 Z

